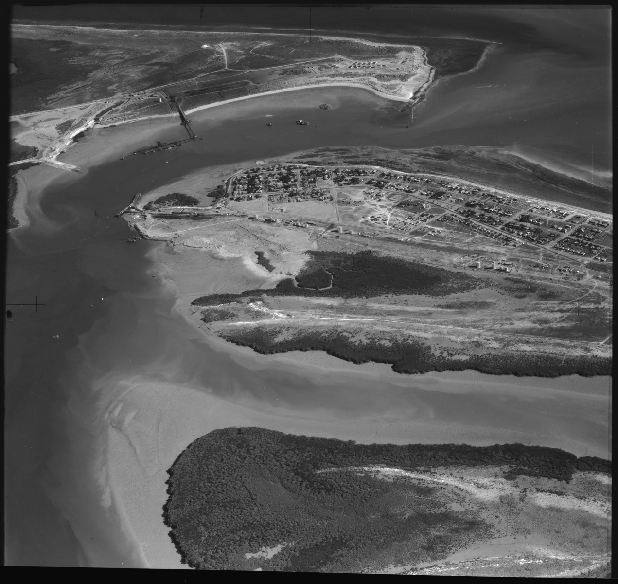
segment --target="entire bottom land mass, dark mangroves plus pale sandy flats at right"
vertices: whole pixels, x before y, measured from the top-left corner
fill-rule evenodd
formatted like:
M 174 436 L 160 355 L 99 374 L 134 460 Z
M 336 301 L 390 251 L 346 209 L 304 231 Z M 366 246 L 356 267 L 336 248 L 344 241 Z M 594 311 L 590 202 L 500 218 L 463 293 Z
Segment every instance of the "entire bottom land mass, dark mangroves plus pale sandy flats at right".
M 229 427 L 188 445 L 168 474 L 166 525 L 197 569 L 608 576 L 601 458 Z

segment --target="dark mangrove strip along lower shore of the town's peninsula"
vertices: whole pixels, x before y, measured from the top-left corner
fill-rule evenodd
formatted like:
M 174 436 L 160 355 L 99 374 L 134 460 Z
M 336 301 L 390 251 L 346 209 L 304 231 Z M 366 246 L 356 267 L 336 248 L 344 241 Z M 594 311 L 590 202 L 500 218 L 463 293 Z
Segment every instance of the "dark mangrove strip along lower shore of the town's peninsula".
M 478 371 L 493 375 L 519 377 L 559 377 L 564 375 L 610 375 L 609 358 L 585 356 L 565 357 L 546 353 L 473 354 L 462 361 L 451 356 L 436 356 L 430 346 L 418 341 L 389 340 L 384 345 L 383 337 L 368 342 L 352 341 L 345 330 L 312 330 L 280 338 L 283 327 L 256 325 L 250 328 L 224 330 L 219 335 L 236 345 L 248 346 L 257 353 L 273 354 L 288 351 L 325 351 L 329 355 L 352 363 L 388 363 L 397 373 L 428 373 L 430 371 Z

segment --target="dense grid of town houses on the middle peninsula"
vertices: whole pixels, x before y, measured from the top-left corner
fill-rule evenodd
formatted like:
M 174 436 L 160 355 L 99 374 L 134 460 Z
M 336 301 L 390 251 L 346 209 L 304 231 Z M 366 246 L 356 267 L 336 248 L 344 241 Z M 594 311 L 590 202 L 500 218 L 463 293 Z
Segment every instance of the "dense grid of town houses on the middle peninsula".
M 355 63 L 359 67 L 375 64 L 375 61 Z M 324 200 L 327 198 L 332 200 L 332 196 L 324 192 L 324 189 L 318 189 L 317 186 L 320 184 L 318 180 L 328 178 L 331 178 L 337 186 L 366 184 L 371 188 L 363 191 L 365 200 L 381 199 L 384 196 L 383 191 L 412 192 L 436 201 L 447 199 L 447 202 L 454 204 L 453 206 L 446 205 L 447 208 L 452 210 L 452 213 L 439 216 L 438 221 L 460 223 L 476 233 L 501 241 L 502 244 L 507 246 L 518 245 L 517 240 L 508 234 L 519 236 L 525 241 L 540 245 L 555 242 L 561 234 L 569 234 L 566 238 L 557 241 L 554 244 L 554 249 L 565 250 L 575 255 L 598 254 L 598 259 L 601 261 L 606 261 L 606 255 L 609 255 L 608 252 L 605 252 L 602 258 L 601 252 L 606 248 L 592 243 L 599 235 L 604 233 L 601 228 L 604 229 L 611 225 L 608 221 L 598 217 L 590 219 L 585 215 L 574 215 L 572 210 L 552 207 L 551 204 L 543 205 L 531 200 L 526 200 L 527 205 L 524 207 L 520 205 L 523 199 L 520 200 L 519 197 L 513 195 L 494 193 L 481 187 L 462 186 L 444 179 L 432 179 L 396 171 L 376 171 L 371 168 L 328 169 L 275 165 L 268 168 L 252 169 L 236 176 L 232 181 L 232 194 L 241 197 L 240 200 L 243 200 L 242 197 L 259 196 L 262 192 L 279 192 L 283 197 L 280 197 L 280 200 L 285 199 L 287 202 L 310 199 Z M 426 185 L 425 190 L 420 191 L 419 185 Z M 452 191 L 463 196 L 454 196 L 446 191 Z M 342 201 L 341 203 L 351 206 L 365 204 L 360 200 Z M 392 223 L 389 228 L 396 231 L 410 231 L 415 226 L 426 223 L 435 217 L 426 210 L 428 205 L 420 202 L 417 205 L 421 205 L 418 209 L 421 213 L 413 210 L 414 205 L 410 200 L 404 200 L 397 205 L 397 207 L 402 208 L 402 216 L 391 217 L 390 220 L 387 220 L 386 215 L 375 213 L 368 217 L 368 220 L 381 225 Z M 519 215 L 519 213 L 522 214 Z M 514 218 L 514 220 L 505 223 L 505 218 L 509 217 Z M 548 218 L 550 217 L 556 218 L 557 221 L 549 221 Z M 570 217 L 568 224 L 564 222 L 567 217 Z M 582 225 L 586 221 L 594 227 L 586 225 L 572 231 L 576 225 Z M 484 223 L 488 228 L 484 228 L 478 223 Z M 295 225 L 295 223 L 292 224 Z M 431 229 L 437 230 L 438 228 Z

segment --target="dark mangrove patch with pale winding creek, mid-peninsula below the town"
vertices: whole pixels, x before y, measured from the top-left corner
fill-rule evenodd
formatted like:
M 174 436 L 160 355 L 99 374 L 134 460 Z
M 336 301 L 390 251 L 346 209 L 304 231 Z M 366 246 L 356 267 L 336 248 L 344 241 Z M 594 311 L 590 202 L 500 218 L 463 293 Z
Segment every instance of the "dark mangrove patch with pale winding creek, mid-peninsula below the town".
M 216 306 L 247 296 L 329 296 L 372 298 L 385 294 L 428 294 L 445 296 L 474 290 L 486 282 L 467 274 L 449 272 L 418 262 L 381 257 L 373 251 L 310 251 L 311 259 L 294 278 L 275 288 L 245 290 L 240 294 L 211 294 L 195 299 L 197 306 Z M 328 290 L 316 290 L 326 288 Z

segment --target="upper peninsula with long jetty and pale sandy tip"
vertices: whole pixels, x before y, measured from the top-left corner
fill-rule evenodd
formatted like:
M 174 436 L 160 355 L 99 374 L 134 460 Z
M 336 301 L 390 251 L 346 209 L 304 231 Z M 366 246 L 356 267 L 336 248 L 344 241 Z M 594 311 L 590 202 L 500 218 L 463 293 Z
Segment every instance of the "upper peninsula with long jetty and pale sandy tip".
M 393 45 L 322 35 L 33 24 L 12 25 L 12 37 L 10 164 L 66 170 L 78 169 L 57 156 L 90 127 L 182 118 L 256 95 L 353 85 L 411 108 L 433 80 L 471 69 L 489 46 L 463 39 Z M 33 53 L 33 46 L 41 50 Z M 43 98 L 37 80 L 20 72 L 24 61 L 59 72 Z

